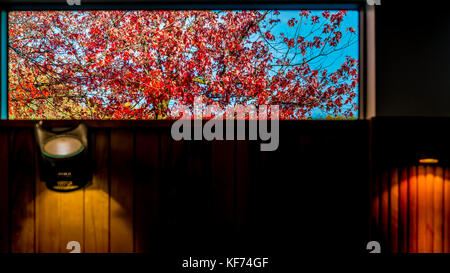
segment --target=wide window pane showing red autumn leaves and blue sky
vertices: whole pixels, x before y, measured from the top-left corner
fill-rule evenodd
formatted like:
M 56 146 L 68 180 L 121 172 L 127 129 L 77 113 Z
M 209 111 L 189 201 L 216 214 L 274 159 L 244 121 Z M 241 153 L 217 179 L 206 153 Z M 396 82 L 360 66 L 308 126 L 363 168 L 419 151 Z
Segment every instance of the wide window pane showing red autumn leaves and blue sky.
M 9 119 L 358 116 L 355 10 L 10 11 Z M 213 114 L 220 114 L 216 111 Z

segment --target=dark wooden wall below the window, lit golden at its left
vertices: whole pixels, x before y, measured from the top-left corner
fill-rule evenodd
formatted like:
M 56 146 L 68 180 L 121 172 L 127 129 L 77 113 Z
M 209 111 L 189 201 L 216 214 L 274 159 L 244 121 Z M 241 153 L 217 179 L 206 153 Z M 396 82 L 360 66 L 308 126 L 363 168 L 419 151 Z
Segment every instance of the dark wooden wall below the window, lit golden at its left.
M 88 122 L 95 172 L 71 193 L 39 181 L 30 122 L 0 124 L 1 252 L 365 251 L 367 122 L 282 123 L 275 152 L 121 124 Z

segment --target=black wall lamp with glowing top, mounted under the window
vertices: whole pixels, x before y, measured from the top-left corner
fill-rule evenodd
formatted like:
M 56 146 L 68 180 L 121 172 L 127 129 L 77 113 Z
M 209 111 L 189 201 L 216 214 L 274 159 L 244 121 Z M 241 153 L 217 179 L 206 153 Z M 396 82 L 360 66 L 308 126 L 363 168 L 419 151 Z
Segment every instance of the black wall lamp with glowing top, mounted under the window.
M 49 189 L 69 192 L 88 183 L 91 170 L 84 123 L 69 128 L 44 128 L 40 121 L 35 125 L 35 136 L 40 151 L 40 178 Z

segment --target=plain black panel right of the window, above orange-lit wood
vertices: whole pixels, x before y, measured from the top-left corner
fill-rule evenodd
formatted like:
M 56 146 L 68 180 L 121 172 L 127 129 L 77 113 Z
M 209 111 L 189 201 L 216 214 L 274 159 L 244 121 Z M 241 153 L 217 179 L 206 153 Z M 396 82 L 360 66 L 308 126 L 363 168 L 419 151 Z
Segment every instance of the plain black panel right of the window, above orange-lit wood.
M 450 116 L 450 18 L 436 4 L 376 7 L 377 116 Z

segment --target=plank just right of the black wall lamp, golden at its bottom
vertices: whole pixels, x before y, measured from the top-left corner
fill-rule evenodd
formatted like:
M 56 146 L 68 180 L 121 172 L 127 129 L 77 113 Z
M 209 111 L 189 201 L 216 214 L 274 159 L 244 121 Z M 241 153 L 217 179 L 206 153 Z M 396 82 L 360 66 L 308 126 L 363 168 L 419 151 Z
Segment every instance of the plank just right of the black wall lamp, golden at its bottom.
M 92 185 L 84 190 L 84 252 L 109 251 L 109 131 L 93 136 L 95 168 Z

